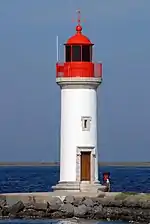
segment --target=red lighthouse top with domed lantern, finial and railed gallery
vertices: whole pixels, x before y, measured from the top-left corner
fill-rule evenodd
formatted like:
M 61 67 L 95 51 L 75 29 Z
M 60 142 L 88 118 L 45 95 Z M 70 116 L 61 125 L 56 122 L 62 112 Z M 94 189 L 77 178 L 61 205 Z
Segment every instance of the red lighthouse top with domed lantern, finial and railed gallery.
M 102 63 L 93 63 L 93 45 L 82 33 L 79 15 L 75 35 L 64 44 L 64 62 L 56 64 L 56 78 L 101 78 Z

